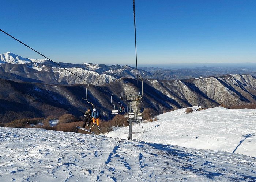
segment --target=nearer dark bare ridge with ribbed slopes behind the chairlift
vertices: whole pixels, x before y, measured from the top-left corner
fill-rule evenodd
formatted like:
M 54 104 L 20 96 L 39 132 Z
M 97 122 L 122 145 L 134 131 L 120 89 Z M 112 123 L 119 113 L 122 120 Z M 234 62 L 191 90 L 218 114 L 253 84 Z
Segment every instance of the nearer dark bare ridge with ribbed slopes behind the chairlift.
M 159 114 L 195 105 L 211 108 L 220 104 L 227 107 L 256 104 L 256 78 L 251 75 L 174 81 L 144 79 L 143 82 L 143 105 Z M 86 98 L 84 84 L 55 85 L 0 79 L 0 88 L 0 122 L 65 113 L 82 116 L 86 108 L 91 107 L 82 99 Z M 113 93 L 112 102 L 120 106 L 118 102 L 122 93 L 136 92 L 135 79 L 121 78 L 103 86 L 89 86 L 88 100 L 101 112 L 101 119 L 108 120 L 113 117 L 109 93 Z M 120 103 L 127 106 L 122 100 Z

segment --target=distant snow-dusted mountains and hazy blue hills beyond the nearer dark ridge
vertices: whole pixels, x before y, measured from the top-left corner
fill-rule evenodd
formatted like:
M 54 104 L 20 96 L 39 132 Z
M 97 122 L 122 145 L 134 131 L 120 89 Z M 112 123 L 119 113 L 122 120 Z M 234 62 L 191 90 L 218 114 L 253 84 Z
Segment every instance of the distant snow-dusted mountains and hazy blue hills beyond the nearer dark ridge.
M 119 78 L 137 78 L 136 68 L 105 64 L 58 63 L 69 71 L 94 85 L 114 82 Z M 67 70 L 47 59 L 22 58 L 11 52 L 0 54 L 0 78 L 51 84 L 87 84 Z M 144 79 L 179 80 L 225 74 L 250 74 L 256 76 L 255 68 L 247 67 L 196 67 L 196 68 L 153 68 L 139 67 L 138 75 Z

